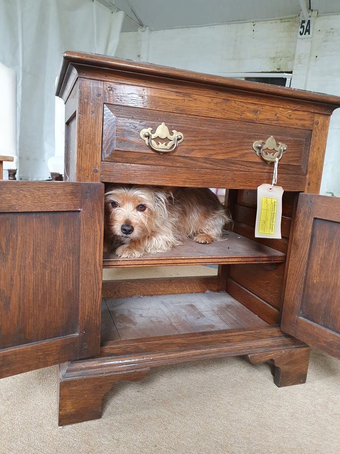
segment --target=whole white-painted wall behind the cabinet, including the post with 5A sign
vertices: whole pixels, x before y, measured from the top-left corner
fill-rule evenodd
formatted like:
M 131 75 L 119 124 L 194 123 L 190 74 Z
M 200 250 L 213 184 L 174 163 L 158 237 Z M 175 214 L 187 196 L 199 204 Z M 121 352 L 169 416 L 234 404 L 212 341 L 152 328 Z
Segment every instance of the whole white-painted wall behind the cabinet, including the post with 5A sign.
M 122 33 L 116 55 L 217 75 L 293 72 L 292 87 L 340 95 L 340 15 L 313 17 L 310 38 L 299 37 L 299 23 L 294 17 Z M 338 110 L 331 118 L 320 193 L 340 197 Z

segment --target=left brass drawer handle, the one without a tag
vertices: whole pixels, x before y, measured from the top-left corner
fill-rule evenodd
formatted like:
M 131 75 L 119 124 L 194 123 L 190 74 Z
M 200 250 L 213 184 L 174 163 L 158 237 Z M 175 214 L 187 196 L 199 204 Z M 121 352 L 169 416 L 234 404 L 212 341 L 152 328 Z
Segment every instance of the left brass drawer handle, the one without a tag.
M 177 132 L 176 130 L 172 130 L 172 134 L 170 134 L 169 128 L 162 123 L 159 125 L 155 131 L 155 133 L 152 133 L 152 128 L 145 128 L 142 129 L 140 136 L 143 140 L 145 140 L 145 143 L 152 148 L 153 150 L 157 151 L 160 154 L 163 153 L 169 153 L 170 151 L 173 151 L 177 145 L 184 140 L 184 134 Z M 159 139 L 169 139 L 169 142 L 161 142 L 154 140 L 156 138 Z

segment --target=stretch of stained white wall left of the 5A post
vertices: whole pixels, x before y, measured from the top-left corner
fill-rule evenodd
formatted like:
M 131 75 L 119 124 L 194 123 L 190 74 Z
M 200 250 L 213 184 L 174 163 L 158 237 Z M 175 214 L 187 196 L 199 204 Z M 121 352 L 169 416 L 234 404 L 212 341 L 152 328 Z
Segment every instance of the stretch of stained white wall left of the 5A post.
M 121 33 L 116 55 L 222 75 L 292 71 L 298 18 Z

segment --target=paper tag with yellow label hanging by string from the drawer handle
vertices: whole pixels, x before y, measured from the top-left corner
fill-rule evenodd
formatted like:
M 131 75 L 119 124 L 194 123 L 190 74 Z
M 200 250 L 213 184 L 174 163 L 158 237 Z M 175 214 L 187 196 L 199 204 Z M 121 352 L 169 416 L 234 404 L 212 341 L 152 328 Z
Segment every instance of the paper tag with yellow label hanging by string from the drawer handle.
M 263 184 L 257 188 L 255 238 L 281 238 L 283 192 L 281 186 Z

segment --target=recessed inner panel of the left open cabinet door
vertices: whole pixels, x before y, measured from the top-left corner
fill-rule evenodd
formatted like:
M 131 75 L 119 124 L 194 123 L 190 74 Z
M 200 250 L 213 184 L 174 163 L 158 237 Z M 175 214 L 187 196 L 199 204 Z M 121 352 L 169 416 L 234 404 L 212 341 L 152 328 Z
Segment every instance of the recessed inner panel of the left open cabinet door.
M 2 279 L 2 348 L 74 333 L 78 308 L 70 301 L 79 299 L 80 212 L 0 213 L 0 224 L 7 245 L 2 273 L 12 270 Z

